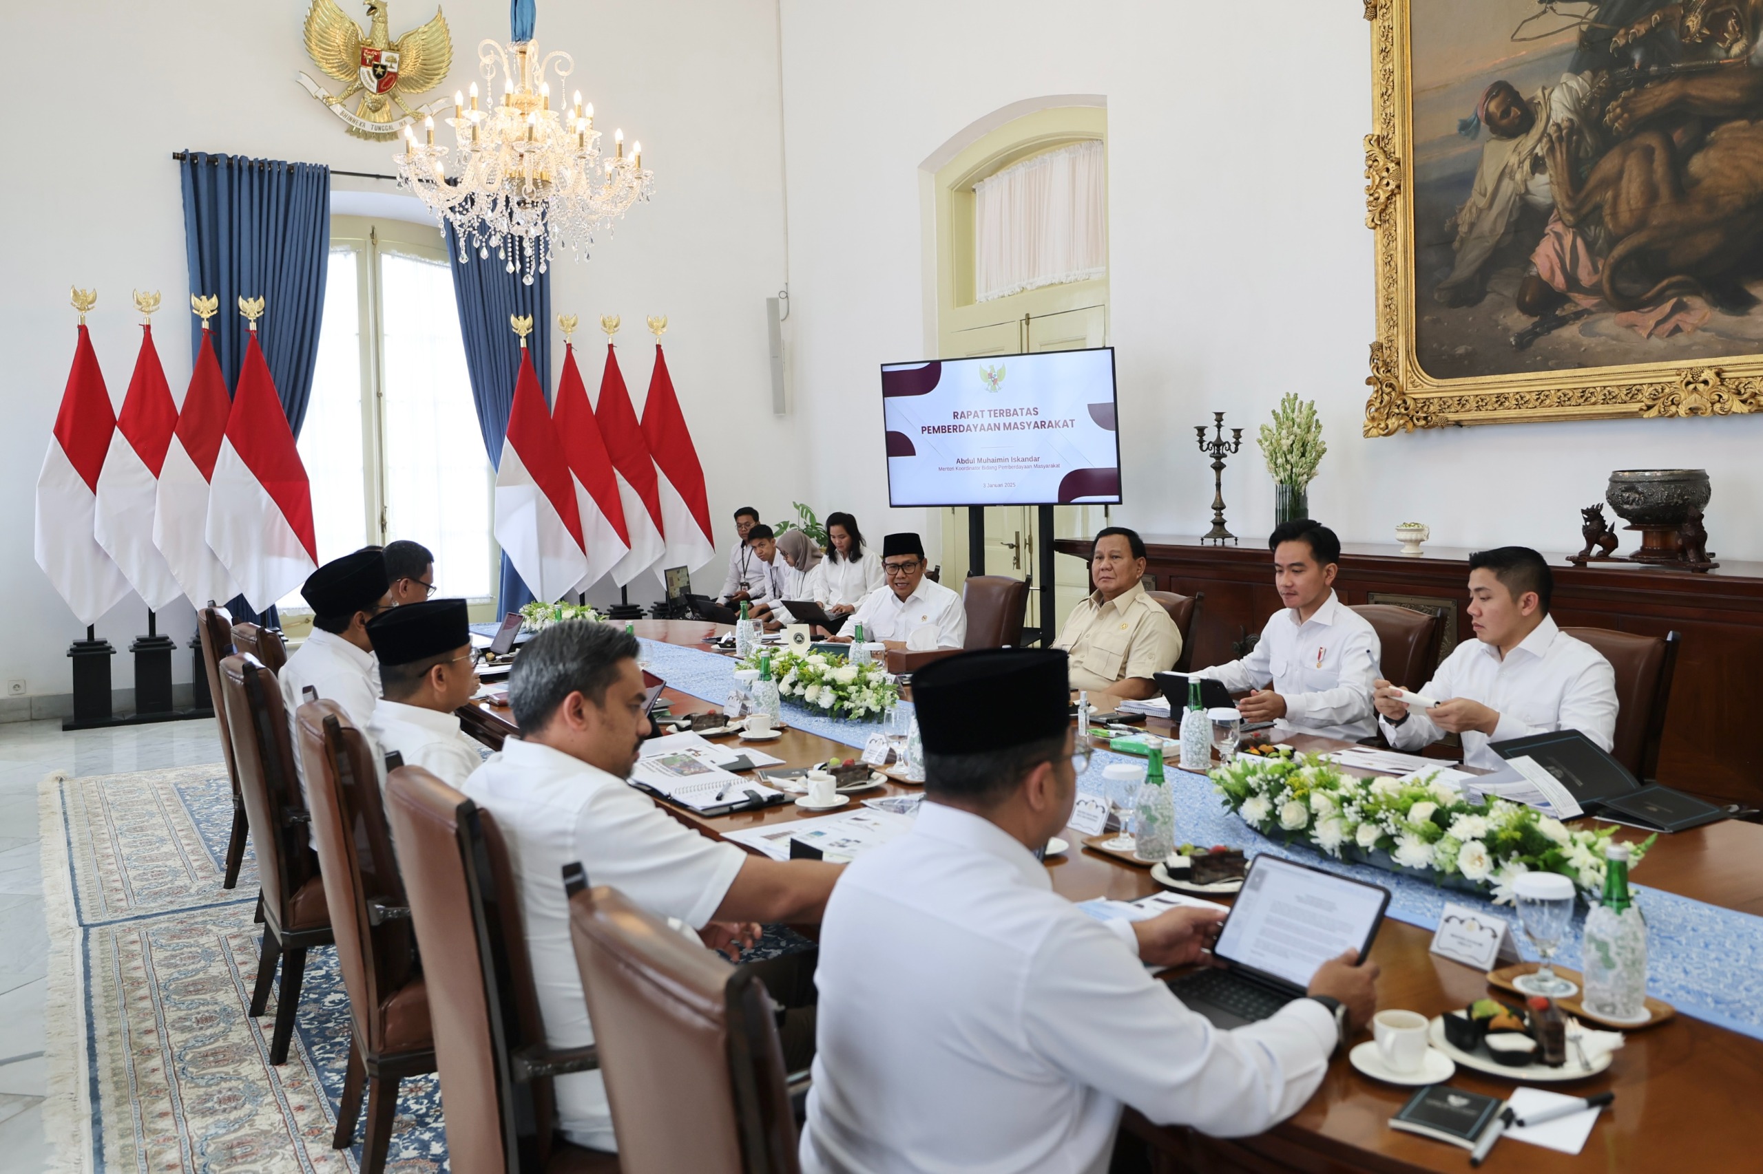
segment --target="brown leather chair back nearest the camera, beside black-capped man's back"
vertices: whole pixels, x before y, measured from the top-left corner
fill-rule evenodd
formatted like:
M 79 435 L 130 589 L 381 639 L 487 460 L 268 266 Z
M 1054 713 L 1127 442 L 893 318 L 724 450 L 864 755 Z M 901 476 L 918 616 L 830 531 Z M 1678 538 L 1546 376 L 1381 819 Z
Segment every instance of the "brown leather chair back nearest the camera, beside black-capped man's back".
M 569 887 L 569 936 L 629 1170 L 797 1174 L 774 1003 L 751 968 L 695 947 L 617 888 Z M 792 1088 L 793 1086 L 793 1088 Z M 693 1107 L 681 1128 L 679 1105 Z

